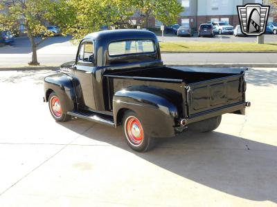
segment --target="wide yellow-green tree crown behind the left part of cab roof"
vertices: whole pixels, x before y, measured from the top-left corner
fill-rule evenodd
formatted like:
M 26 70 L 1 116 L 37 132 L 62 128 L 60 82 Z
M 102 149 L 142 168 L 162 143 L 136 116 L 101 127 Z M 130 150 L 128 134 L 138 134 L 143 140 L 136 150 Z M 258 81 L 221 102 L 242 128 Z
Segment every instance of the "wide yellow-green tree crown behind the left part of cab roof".
M 67 9 L 57 11 L 61 17 L 59 25 L 81 39 L 86 34 L 100 30 L 101 26 L 130 26 L 129 17 L 134 14 L 134 0 L 60 0 Z M 64 21 L 64 22 L 63 22 Z

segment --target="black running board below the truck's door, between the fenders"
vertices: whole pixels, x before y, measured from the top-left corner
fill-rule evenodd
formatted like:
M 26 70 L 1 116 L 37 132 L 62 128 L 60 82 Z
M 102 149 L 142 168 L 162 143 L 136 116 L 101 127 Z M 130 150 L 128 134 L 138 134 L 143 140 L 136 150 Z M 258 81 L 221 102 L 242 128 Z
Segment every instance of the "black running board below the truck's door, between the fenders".
M 89 121 L 94 121 L 99 124 L 105 124 L 107 126 L 114 126 L 114 117 L 108 115 L 102 115 L 96 112 L 80 112 L 80 111 L 69 111 L 68 115 L 72 117 L 77 117 L 80 119 L 87 119 Z

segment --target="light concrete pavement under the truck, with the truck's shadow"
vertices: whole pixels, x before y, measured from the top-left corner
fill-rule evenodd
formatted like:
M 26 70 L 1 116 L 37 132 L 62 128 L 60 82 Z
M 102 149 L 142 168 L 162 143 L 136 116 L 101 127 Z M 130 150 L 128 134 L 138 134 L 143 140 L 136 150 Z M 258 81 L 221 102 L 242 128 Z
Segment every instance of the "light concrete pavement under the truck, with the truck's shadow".
M 147 153 L 121 129 L 56 123 L 49 71 L 0 72 L 0 206 L 276 206 L 277 68 L 247 74 L 247 116 L 224 115 Z

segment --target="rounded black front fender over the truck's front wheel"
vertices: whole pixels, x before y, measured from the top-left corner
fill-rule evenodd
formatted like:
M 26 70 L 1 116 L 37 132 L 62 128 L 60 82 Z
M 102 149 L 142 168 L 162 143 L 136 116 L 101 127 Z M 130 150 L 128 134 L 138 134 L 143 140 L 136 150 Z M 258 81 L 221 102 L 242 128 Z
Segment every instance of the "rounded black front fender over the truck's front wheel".
M 75 92 L 71 77 L 64 73 L 49 75 L 44 78 L 44 97 L 48 101 L 50 93 L 54 91 L 60 98 L 63 112 L 74 109 Z

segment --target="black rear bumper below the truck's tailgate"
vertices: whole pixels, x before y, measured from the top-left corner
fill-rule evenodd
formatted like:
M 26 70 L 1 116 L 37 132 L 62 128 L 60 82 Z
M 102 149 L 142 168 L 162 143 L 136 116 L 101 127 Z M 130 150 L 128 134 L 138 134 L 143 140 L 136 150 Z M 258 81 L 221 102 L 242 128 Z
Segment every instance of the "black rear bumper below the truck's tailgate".
M 245 108 L 250 107 L 251 103 L 250 102 L 242 102 L 242 103 L 235 103 L 231 104 L 228 106 L 222 106 L 220 108 L 215 108 L 213 110 L 207 110 L 204 112 L 199 112 L 195 115 L 192 115 L 188 117 L 187 119 L 181 119 L 181 121 L 184 122 L 184 126 L 188 124 L 193 124 L 197 121 L 202 121 L 205 119 L 209 119 L 212 117 L 217 117 L 220 115 L 224 115 L 226 113 L 235 113 L 235 114 L 240 114 L 240 115 L 245 115 Z

